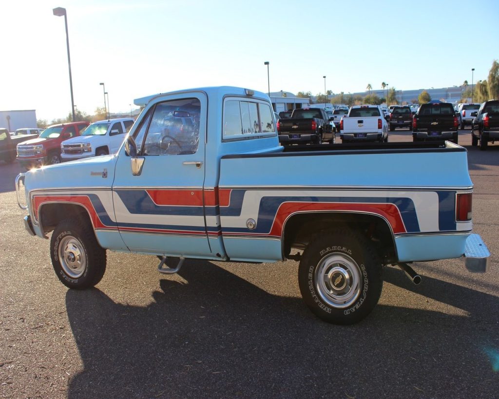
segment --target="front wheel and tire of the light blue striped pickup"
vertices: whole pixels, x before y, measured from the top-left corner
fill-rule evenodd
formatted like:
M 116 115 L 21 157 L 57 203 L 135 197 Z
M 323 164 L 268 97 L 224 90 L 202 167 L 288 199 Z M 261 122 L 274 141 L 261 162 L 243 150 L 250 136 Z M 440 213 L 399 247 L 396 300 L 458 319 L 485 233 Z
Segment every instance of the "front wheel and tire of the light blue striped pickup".
M 55 274 L 69 288 L 93 287 L 106 270 L 106 250 L 92 229 L 77 219 L 63 220 L 55 227 L 50 258 Z

